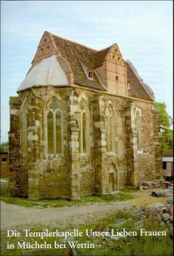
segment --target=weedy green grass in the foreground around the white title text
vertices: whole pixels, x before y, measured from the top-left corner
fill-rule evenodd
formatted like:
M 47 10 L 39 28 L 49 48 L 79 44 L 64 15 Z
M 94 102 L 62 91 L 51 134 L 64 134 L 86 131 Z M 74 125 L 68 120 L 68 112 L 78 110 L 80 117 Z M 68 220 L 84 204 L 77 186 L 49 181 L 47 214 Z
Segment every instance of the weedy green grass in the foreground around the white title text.
M 117 219 L 129 219 L 130 212 L 126 209 L 124 211 L 116 211 L 116 213 L 111 214 L 105 219 L 101 219 L 99 222 L 86 224 L 82 226 L 60 226 L 60 224 L 55 224 L 55 226 L 46 226 L 46 225 L 37 225 L 30 227 L 30 231 L 44 231 L 48 229 L 49 231 L 73 231 L 73 229 L 79 229 L 79 231 L 83 232 L 83 237 L 73 237 L 73 240 L 77 240 L 78 243 L 91 243 L 95 245 L 95 248 L 76 248 L 76 254 L 78 256 L 81 255 L 113 255 L 113 256 L 172 256 L 173 255 L 173 241 L 170 239 L 170 230 L 167 231 L 166 237 L 127 237 L 126 239 L 119 239 L 119 240 L 111 240 L 111 239 L 104 239 L 102 237 L 86 237 L 86 229 L 93 229 L 95 226 L 104 226 L 109 227 L 110 229 L 114 229 L 116 232 L 116 228 L 114 224 L 116 223 Z M 134 221 L 134 220 L 133 220 Z M 119 231 L 122 229 L 128 229 L 129 231 L 136 231 L 134 227 L 131 226 L 132 221 L 128 221 L 124 226 L 119 227 Z M 26 226 L 25 229 L 29 229 Z M 145 226 L 143 226 L 147 231 L 164 231 L 166 228 L 162 228 L 155 222 L 153 219 L 147 219 Z M 17 229 L 17 228 L 16 228 Z M 22 228 L 17 229 L 17 231 L 22 232 Z M 24 233 L 24 232 L 23 232 Z M 42 244 L 43 241 L 46 241 L 47 244 L 52 244 L 52 249 L 48 250 L 32 250 L 31 254 L 26 255 L 68 255 L 68 251 L 70 248 L 67 247 L 65 249 L 55 249 L 53 248 L 53 244 L 56 240 L 57 243 L 63 242 L 62 237 L 47 237 L 45 239 L 40 239 L 39 237 L 24 237 L 22 236 L 17 237 L 6 237 L 6 232 L 2 232 L 1 234 L 1 255 L 2 256 L 9 256 L 9 255 L 24 255 L 27 250 L 24 249 L 17 249 L 14 248 L 13 250 L 6 249 L 6 243 L 9 242 L 10 244 L 17 245 L 17 242 L 35 242 L 37 241 L 38 244 Z M 139 230 L 137 230 L 139 234 Z

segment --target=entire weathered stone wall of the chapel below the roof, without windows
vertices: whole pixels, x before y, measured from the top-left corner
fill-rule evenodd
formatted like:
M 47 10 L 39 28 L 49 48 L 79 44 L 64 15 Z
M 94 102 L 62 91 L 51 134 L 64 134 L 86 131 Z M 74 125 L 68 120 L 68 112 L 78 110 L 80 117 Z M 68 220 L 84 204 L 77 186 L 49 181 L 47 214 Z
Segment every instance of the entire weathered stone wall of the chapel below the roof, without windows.
M 47 154 L 45 107 L 57 97 L 63 106 L 63 154 Z M 27 99 L 27 156 L 20 151 L 20 102 Z M 78 104 L 88 104 L 88 151 L 79 148 Z M 11 100 L 10 192 L 29 198 L 72 198 L 109 193 L 125 185 L 139 185 L 142 180 L 157 178 L 160 168 L 160 144 L 157 119 L 152 104 L 143 100 L 127 100 L 91 89 L 74 87 L 37 87 L 20 92 Z M 114 110 L 114 149 L 107 152 L 105 111 Z M 134 112 L 142 112 L 142 151 L 137 151 Z M 156 116 L 157 118 L 157 116 Z M 156 130 L 155 130 L 156 129 Z M 156 138 L 155 144 L 153 142 Z M 23 139 L 23 137 L 22 137 Z M 160 156 L 159 156 L 160 157 Z M 159 175 L 160 177 L 160 175 Z

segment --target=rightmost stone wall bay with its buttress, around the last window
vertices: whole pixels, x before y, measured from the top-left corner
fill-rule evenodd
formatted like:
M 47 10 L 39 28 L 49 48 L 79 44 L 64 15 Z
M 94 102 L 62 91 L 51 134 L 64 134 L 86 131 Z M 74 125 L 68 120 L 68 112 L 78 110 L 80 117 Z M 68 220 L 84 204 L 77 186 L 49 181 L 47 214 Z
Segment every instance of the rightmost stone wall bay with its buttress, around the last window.
M 137 150 L 137 132 L 134 131 L 134 112 L 138 108 L 142 113 L 142 150 Z M 127 185 L 137 186 L 142 180 L 155 180 L 157 177 L 157 159 L 155 145 L 160 146 L 159 134 L 154 130 L 152 104 L 141 101 L 124 103 L 124 121 L 126 134 Z M 159 124 L 157 126 L 159 128 Z M 157 144 L 154 143 L 157 139 Z M 159 163 L 161 160 L 160 154 Z

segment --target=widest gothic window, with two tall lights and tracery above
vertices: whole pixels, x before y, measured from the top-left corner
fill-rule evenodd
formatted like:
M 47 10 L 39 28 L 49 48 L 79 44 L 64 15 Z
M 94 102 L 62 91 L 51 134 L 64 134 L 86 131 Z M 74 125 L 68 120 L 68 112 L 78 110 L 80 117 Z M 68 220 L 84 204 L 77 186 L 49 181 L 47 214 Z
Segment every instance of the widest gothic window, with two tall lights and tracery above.
M 60 102 L 52 98 L 47 104 L 47 154 L 63 153 L 63 113 Z

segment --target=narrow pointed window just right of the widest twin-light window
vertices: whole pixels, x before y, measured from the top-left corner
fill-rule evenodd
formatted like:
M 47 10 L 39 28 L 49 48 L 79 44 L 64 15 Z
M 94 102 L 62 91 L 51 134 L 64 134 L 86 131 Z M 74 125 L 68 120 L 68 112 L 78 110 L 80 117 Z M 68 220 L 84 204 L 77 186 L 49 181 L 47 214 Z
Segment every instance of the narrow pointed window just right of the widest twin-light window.
M 79 104 L 78 120 L 79 120 L 79 148 L 80 153 L 86 153 L 88 151 L 88 112 L 87 107 L 83 101 Z

